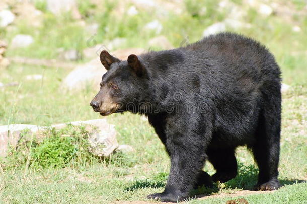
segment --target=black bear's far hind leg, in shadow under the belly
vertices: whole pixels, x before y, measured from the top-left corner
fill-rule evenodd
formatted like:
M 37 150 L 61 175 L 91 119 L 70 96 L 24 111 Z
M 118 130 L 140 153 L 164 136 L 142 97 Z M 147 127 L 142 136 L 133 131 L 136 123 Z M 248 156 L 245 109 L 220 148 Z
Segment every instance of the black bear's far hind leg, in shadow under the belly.
M 208 160 L 216 170 L 212 175 L 214 182 L 227 182 L 237 176 L 237 160 L 235 150 L 229 149 L 209 149 L 207 151 Z

